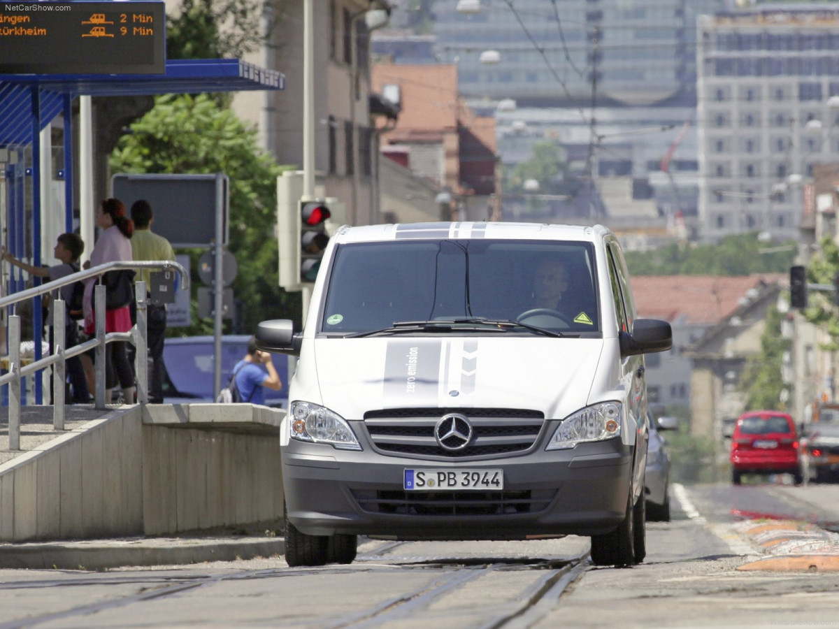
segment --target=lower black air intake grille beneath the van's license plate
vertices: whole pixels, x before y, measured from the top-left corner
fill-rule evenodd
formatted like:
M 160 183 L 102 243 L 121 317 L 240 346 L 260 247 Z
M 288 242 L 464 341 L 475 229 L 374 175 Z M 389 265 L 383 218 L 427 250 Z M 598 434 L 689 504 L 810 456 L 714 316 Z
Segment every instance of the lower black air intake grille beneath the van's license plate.
M 368 513 L 411 516 L 505 516 L 545 511 L 554 490 L 541 491 L 352 491 Z

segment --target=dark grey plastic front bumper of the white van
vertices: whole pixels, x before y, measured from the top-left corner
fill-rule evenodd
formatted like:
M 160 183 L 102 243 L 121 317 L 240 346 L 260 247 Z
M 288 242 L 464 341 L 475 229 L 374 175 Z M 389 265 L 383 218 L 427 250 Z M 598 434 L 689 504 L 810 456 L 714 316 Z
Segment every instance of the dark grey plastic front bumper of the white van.
M 302 533 L 523 539 L 607 533 L 623 520 L 633 448 L 620 439 L 487 460 L 415 459 L 295 441 L 282 449 L 289 521 Z M 404 491 L 405 469 L 503 469 L 503 491 Z

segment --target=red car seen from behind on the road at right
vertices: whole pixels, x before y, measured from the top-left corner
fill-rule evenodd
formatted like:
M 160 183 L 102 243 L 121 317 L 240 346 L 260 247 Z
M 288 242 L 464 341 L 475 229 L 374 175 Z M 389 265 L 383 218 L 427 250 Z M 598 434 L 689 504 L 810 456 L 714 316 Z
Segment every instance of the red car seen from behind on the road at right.
M 732 434 L 732 482 L 743 474 L 791 474 L 804 481 L 798 431 L 787 413 L 750 411 L 737 418 Z

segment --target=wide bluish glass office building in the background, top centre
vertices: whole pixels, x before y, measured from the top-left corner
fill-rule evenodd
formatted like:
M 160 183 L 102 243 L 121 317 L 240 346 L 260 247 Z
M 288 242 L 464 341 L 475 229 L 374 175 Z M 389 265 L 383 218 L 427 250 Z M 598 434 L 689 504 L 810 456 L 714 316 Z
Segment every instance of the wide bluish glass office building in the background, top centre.
M 482 0 L 479 13 L 433 4 L 437 59 L 456 62 L 464 96 L 522 106 L 696 102 L 696 16 L 724 0 Z M 498 63 L 482 62 L 487 50 Z M 485 56 L 486 59 L 486 56 Z

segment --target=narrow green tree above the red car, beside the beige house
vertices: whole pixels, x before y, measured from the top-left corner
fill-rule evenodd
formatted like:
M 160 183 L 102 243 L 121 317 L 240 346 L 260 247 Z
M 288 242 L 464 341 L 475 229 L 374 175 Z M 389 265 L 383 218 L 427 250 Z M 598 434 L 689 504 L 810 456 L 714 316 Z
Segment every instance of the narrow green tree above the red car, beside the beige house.
M 792 341 L 781 335 L 784 320 L 778 308 L 772 306 L 766 313 L 763 335 L 760 337 L 760 356 L 748 361 L 740 376 L 740 390 L 746 393 L 744 408 L 783 410 L 781 392 L 789 389 L 781 375 L 784 351 L 789 351 Z

